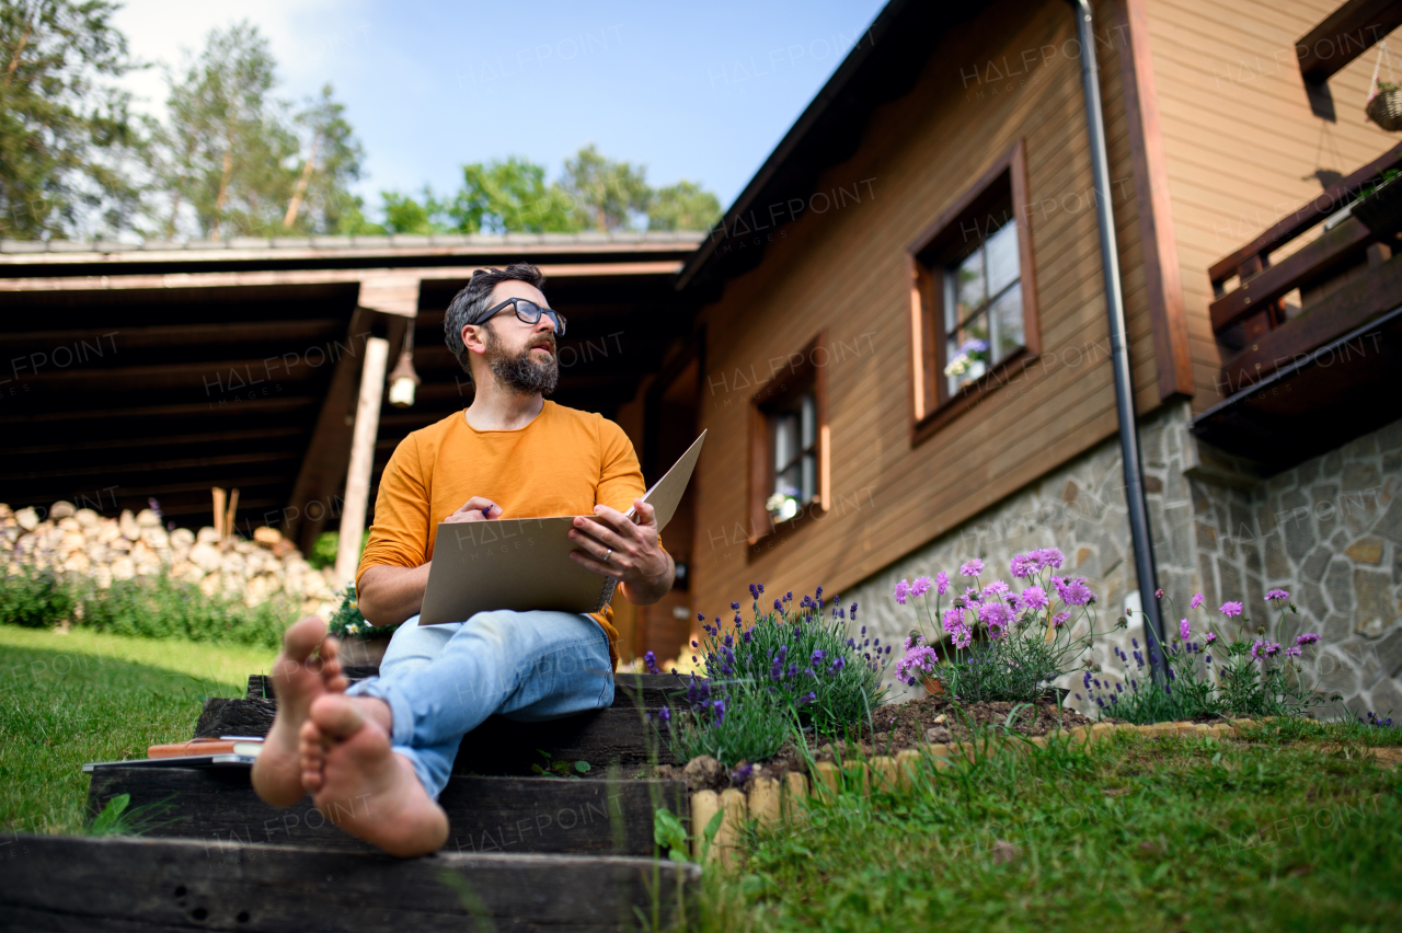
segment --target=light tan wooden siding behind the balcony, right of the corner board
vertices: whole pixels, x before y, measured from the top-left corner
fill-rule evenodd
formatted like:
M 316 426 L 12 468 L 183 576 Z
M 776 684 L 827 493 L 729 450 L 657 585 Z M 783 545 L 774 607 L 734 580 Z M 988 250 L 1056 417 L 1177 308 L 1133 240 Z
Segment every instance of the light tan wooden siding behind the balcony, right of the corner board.
M 1347 175 L 1396 137 L 1364 120 L 1374 49 L 1329 78 L 1336 122 L 1309 109 L 1295 41 L 1339 0 L 1143 0 L 1143 6 L 1190 335 L 1193 408 L 1200 412 L 1221 399 L 1207 269 L 1316 196 L 1326 185 L 1314 172 Z

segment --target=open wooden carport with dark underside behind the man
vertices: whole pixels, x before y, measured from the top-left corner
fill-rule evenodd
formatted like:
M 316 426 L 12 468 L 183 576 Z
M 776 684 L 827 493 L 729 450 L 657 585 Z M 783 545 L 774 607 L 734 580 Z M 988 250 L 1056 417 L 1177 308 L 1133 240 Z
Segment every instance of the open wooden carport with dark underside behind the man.
M 303 551 L 339 521 L 366 342 L 423 380 L 381 409 L 373 488 L 409 431 L 471 402 L 443 311 L 472 269 L 524 259 L 569 319 L 554 398 L 613 416 L 690 335 L 673 287 L 701 234 L 508 234 L 0 242 L 0 502 L 114 514 L 160 502 L 207 524 L 238 488 L 237 525 Z M 634 438 L 639 451 L 641 438 Z

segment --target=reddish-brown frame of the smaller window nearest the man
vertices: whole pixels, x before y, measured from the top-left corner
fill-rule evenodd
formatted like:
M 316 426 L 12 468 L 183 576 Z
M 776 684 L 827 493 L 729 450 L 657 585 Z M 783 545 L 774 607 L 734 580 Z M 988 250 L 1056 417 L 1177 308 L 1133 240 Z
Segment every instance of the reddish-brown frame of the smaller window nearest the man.
M 794 356 L 802 361 L 794 363 Z M 767 548 L 757 546 L 770 539 L 791 534 L 815 513 L 826 513 L 831 503 L 830 454 L 831 437 L 827 424 L 827 331 L 822 331 L 796 354 L 782 357 L 781 371 L 761 385 L 750 396 L 750 534 L 747 553 L 750 560 Z M 780 359 L 780 357 L 775 357 Z M 809 502 L 798 514 L 784 521 L 774 521 L 765 509 L 765 502 L 774 492 L 774 416 L 788 410 L 795 401 L 812 388 L 816 403 L 816 500 Z

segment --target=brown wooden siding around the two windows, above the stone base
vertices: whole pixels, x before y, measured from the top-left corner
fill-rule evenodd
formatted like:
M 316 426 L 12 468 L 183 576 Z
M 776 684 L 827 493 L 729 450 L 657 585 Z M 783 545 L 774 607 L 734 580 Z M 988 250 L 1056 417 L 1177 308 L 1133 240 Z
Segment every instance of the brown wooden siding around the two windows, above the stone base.
M 1131 375 L 1141 410 L 1161 403 L 1143 275 L 1133 158 L 1110 3 L 1096 7 L 1113 203 Z M 862 146 L 819 189 L 859 185 L 861 203 L 809 213 L 773 234 L 757 269 L 702 311 L 707 371 L 693 479 L 693 594 L 715 615 L 751 581 L 840 593 L 973 518 L 1049 469 L 1112 437 L 1099 237 L 1071 8 L 1002 0 L 946 35 L 916 88 L 876 111 Z M 1046 59 L 1040 50 L 1056 50 Z M 1029 73 L 987 80 L 988 64 Z M 1070 52 L 1070 55 L 1064 53 Z M 977 69 L 979 78 L 970 78 Z M 1029 224 L 1043 354 L 977 408 L 911 448 L 910 279 L 906 247 L 1018 139 L 1026 144 Z M 869 179 L 869 185 L 865 184 Z M 795 192 L 801 196 L 803 192 Z M 770 235 L 770 234 L 760 234 Z M 739 238 L 730 248 L 743 248 Z M 831 507 L 747 560 L 746 410 L 785 354 L 827 331 Z M 1044 361 L 1044 363 L 1043 363 Z M 1052 544 L 1052 542 L 1047 542 Z

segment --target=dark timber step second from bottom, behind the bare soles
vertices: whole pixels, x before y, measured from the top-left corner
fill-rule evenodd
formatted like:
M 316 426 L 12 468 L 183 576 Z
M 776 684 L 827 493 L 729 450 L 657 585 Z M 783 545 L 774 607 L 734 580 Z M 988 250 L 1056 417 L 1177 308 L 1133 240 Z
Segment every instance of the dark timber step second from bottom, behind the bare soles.
M 336 829 L 304 797 L 279 810 L 258 799 L 248 768 L 98 768 L 88 813 L 130 794 L 147 807 L 143 836 L 205 842 L 374 849 Z M 688 815 L 681 782 L 454 775 L 439 797 L 451 827 L 447 852 L 653 855 L 653 813 Z M 350 801 L 348 808 L 370 806 Z

